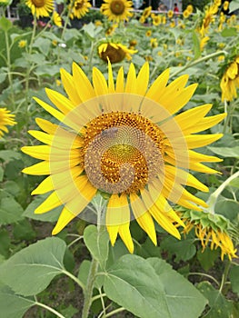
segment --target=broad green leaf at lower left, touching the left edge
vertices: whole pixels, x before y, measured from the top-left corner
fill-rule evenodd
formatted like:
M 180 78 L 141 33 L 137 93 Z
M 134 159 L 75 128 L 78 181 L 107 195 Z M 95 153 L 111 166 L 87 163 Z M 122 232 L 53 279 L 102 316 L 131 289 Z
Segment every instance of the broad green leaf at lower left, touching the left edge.
M 40 293 L 65 270 L 65 249 L 65 242 L 57 237 L 29 245 L 0 266 L 0 280 L 24 296 Z

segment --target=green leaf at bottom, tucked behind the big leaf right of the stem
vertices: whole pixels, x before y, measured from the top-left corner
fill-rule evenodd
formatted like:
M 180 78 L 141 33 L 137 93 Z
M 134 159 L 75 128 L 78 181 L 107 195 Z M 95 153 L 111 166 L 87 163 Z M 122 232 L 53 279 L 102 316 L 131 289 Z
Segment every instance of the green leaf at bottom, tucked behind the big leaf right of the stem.
M 159 258 L 149 258 L 155 273 L 164 285 L 170 317 L 197 318 L 207 303 L 204 296 L 183 275 L 174 271 L 170 264 Z M 190 303 L 190 305 L 189 305 Z

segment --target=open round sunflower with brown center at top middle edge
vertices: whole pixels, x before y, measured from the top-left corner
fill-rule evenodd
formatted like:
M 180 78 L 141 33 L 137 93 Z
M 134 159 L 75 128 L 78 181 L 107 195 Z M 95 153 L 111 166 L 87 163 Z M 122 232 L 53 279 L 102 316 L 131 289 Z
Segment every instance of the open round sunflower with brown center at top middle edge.
M 130 12 L 133 6 L 132 1 L 127 0 L 104 0 L 105 4 L 101 5 L 100 11 L 106 15 L 110 21 L 120 22 L 128 21 L 133 13 Z

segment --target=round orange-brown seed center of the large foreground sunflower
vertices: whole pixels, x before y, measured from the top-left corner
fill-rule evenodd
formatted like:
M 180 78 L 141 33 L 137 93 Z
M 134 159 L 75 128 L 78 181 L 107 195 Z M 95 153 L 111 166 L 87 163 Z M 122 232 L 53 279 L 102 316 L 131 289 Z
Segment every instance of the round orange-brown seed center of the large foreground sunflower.
M 85 173 L 106 193 L 138 192 L 163 164 L 162 133 L 140 114 L 102 114 L 87 124 L 84 139 Z

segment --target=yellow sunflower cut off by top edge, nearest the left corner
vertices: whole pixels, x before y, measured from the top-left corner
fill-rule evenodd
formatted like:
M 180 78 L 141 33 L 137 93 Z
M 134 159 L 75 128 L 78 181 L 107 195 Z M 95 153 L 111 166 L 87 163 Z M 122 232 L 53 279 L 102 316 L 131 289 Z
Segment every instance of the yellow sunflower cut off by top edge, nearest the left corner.
M 32 10 L 32 15 L 35 15 L 37 19 L 40 16 L 49 16 L 54 9 L 53 0 L 26 0 L 25 5 Z

